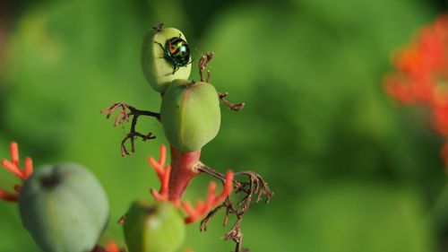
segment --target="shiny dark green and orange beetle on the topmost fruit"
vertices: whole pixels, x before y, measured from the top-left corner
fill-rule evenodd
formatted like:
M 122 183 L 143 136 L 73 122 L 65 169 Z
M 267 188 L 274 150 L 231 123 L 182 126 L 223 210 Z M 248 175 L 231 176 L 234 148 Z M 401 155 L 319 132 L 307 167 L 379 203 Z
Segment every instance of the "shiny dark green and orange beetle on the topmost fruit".
M 179 34 L 179 37 L 168 39 L 165 43 L 165 48 L 157 41 L 154 41 L 154 43 L 157 43 L 162 48 L 163 57 L 173 65 L 173 74 L 176 73 L 179 67 L 192 63 L 190 61 L 190 48 L 188 43 L 181 38 L 181 34 Z

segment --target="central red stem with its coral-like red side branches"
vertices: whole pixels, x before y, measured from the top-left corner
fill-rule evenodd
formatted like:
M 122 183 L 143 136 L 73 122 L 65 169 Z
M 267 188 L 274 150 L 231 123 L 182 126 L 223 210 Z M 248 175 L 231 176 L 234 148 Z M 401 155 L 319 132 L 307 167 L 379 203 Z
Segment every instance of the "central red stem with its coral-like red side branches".
M 195 167 L 199 161 L 201 151 L 196 152 L 180 152 L 175 147 L 171 146 L 171 166 L 165 166 L 167 148 L 164 145 L 160 146 L 159 161 L 155 161 L 150 157 L 148 160 L 152 168 L 156 171 L 160 180 L 159 192 L 151 189 L 151 195 L 159 201 L 171 201 L 176 205 L 180 205 L 180 198 L 185 192 L 185 188 L 199 172 Z M 216 184 L 211 182 L 209 187 L 209 195 L 207 200 L 203 202 L 198 200 L 193 207 L 189 201 L 182 203 L 182 208 L 185 210 L 187 217 L 185 223 L 192 223 L 213 209 L 221 201 L 226 199 L 232 191 L 234 174 L 228 171 L 226 174 L 226 182 L 223 190 L 219 196 L 215 196 Z

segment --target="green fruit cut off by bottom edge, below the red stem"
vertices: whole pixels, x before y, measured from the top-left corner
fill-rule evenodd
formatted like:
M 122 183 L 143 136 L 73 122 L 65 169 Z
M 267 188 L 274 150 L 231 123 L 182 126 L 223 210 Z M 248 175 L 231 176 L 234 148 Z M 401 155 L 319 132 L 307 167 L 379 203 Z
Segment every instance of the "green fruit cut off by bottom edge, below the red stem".
M 173 252 L 185 239 L 184 220 L 168 202 L 134 202 L 123 228 L 129 252 Z

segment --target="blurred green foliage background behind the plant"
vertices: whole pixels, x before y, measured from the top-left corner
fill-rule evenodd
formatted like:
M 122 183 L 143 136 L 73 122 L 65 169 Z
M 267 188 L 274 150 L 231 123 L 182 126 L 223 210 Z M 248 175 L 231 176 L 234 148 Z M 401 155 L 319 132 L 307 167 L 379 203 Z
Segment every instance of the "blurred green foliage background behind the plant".
M 3 5 L 3 6 L 2 6 Z M 127 128 L 99 114 L 112 102 L 159 110 L 140 70 L 142 36 L 177 27 L 198 59 L 214 51 L 211 83 L 240 112 L 222 109 L 203 149 L 213 168 L 254 169 L 276 193 L 243 222 L 252 251 L 448 251 L 443 143 L 426 109 L 386 97 L 390 56 L 446 10 L 425 0 L 5 1 L 0 5 L 0 157 L 20 143 L 35 164 L 76 161 L 108 191 L 104 241 L 123 245 L 116 220 L 159 181 L 146 158 L 167 143 L 151 118 L 122 158 Z M 198 80 L 194 63 L 192 79 Z M 197 178 L 187 197 L 205 196 Z M 0 171 L 0 184 L 13 176 Z M 189 226 L 185 248 L 230 251 L 222 215 Z M 0 202 L 0 252 L 39 251 L 17 206 Z

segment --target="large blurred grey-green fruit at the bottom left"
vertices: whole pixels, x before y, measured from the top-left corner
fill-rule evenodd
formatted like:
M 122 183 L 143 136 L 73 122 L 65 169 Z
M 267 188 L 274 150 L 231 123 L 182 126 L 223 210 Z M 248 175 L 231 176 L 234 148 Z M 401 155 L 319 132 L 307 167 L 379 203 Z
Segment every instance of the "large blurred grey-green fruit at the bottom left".
M 40 167 L 19 197 L 23 225 L 46 252 L 87 252 L 108 223 L 108 197 L 81 165 Z

